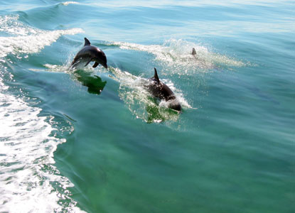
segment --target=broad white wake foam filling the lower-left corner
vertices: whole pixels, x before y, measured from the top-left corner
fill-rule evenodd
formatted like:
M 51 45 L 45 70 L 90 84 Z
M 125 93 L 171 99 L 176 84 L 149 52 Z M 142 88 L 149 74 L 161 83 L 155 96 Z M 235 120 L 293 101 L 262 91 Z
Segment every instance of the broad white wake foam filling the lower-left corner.
M 54 129 L 45 120 L 53 118 L 39 116 L 41 109 L 6 89 L 0 81 L 0 212 L 81 212 L 66 190 L 73 184 L 53 165 L 53 152 L 65 142 L 50 136 Z M 58 204 L 65 199 L 70 207 Z

